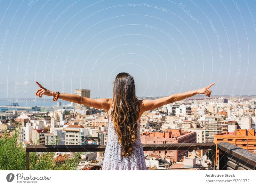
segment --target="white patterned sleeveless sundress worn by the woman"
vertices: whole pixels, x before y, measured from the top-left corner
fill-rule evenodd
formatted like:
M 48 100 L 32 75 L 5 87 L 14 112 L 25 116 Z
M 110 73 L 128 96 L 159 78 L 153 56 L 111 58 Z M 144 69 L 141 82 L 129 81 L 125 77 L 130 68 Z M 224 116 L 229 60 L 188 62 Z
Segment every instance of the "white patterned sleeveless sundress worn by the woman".
M 103 159 L 102 170 L 147 170 L 142 143 L 140 141 L 140 122 L 138 120 L 138 140 L 133 145 L 132 156 L 122 156 L 122 147 L 118 143 L 118 136 L 111 121 L 111 112 L 108 119 L 108 139 Z

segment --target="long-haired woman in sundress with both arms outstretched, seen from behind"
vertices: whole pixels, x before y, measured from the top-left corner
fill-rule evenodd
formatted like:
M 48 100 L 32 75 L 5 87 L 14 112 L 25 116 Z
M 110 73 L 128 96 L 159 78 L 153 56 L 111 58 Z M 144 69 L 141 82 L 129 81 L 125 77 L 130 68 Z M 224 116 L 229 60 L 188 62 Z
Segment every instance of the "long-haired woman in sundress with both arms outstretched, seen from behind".
M 56 92 L 40 89 L 36 96 L 56 96 Z M 139 100 L 135 94 L 133 77 L 128 73 L 119 73 L 113 87 L 113 99 L 91 99 L 75 94 L 60 93 L 60 99 L 104 109 L 108 113 L 108 140 L 104 154 L 102 170 L 147 170 L 143 147 L 140 141 L 139 119 L 143 112 L 163 105 L 180 101 L 196 94 L 210 97 L 209 89 L 214 83 L 203 89 L 173 94 L 154 100 Z

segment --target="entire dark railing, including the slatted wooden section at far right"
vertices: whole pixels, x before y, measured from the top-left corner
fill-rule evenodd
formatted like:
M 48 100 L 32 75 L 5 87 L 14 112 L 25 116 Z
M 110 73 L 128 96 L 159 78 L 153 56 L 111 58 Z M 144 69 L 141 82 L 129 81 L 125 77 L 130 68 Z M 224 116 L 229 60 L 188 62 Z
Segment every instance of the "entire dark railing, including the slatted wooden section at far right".
M 29 170 L 29 152 L 104 152 L 106 145 L 28 145 L 26 148 L 26 170 Z M 217 143 L 219 170 L 255 170 L 256 154 L 227 142 Z M 171 143 L 144 144 L 144 151 L 212 150 L 212 168 L 216 165 L 215 143 Z

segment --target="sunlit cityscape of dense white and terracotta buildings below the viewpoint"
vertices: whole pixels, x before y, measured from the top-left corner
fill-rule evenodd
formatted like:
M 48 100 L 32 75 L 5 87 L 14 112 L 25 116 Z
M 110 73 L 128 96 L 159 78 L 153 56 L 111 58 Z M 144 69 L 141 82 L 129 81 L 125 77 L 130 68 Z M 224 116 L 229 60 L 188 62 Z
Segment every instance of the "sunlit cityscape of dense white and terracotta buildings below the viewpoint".
M 90 89 L 75 89 L 74 93 L 82 97 L 91 96 Z M 10 103 L 12 100 L 8 101 Z M 22 148 L 28 145 L 89 147 L 107 144 L 108 114 L 104 110 L 63 100 L 58 100 L 54 106 L 30 107 L 19 106 L 16 101 L 0 106 L 0 138 L 6 132 L 11 137 L 18 129 L 18 144 L 22 144 Z M 38 103 L 38 100 L 30 101 Z M 191 97 L 144 112 L 140 118 L 140 140 L 142 145 L 228 142 L 255 154 L 255 108 L 256 96 Z M 52 161 L 65 163 L 76 153 L 55 152 Z M 40 154 L 43 152 L 37 155 Z M 152 149 L 144 151 L 144 155 L 148 170 L 212 170 L 215 166 L 216 170 L 219 169 L 217 148 Z M 79 156 L 76 170 L 102 169 L 104 151 L 86 151 Z

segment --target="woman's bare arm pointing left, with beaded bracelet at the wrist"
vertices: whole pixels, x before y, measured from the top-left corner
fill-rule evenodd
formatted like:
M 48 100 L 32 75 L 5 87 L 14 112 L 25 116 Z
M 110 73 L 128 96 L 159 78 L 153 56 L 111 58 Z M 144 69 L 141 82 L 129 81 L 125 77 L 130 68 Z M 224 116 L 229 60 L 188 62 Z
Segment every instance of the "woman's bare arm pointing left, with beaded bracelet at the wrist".
M 56 95 L 56 92 L 45 89 L 37 81 L 36 81 L 36 84 L 40 87 L 40 89 L 36 90 L 36 96 L 42 97 L 43 95 L 46 95 L 46 96 Z M 97 109 L 104 109 L 106 111 L 109 110 L 109 105 L 110 105 L 110 99 L 108 98 L 91 99 L 88 97 L 81 97 L 76 94 L 66 94 L 66 93 L 60 93 L 59 98 L 66 101 L 97 108 Z

